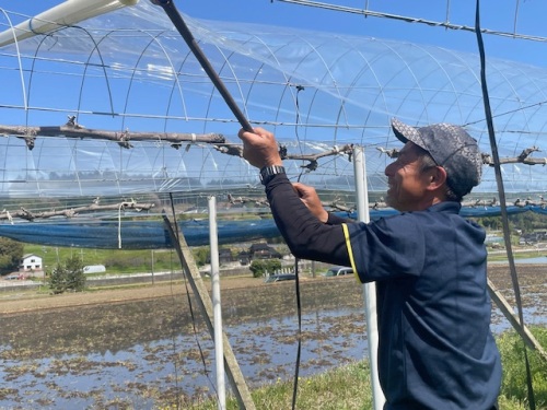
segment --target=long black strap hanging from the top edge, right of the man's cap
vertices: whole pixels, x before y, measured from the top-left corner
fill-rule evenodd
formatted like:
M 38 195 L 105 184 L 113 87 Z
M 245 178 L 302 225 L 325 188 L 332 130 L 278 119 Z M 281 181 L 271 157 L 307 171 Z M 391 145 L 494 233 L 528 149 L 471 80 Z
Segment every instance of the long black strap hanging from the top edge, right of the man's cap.
M 480 55 L 480 85 L 481 85 L 481 90 L 482 90 L 482 99 L 485 102 L 485 115 L 486 115 L 486 122 L 488 126 L 488 136 L 490 138 L 490 147 L 492 150 L 493 167 L 496 171 L 496 180 L 498 183 L 498 192 L 500 196 L 501 216 L 502 216 L 501 220 L 503 223 L 503 236 L 505 239 L 505 248 L 508 249 L 509 267 L 511 270 L 511 279 L 513 281 L 516 308 L 519 311 L 519 319 L 521 321 L 520 325 L 522 327 L 524 327 L 524 316 L 523 316 L 523 309 L 522 309 L 521 290 L 520 290 L 520 285 L 519 285 L 519 278 L 516 276 L 513 250 L 512 250 L 512 245 L 511 245 L 511 233 L 510 233 L 510 229 L 509 229 L 508 211 L 507 211 L 507 204 L 505 204 L 505 190 L 503 189 L 503 180 L 502 180 L 501 167 L 500 167 L 500 157 L 499 157 L 499 153 L 498 153 L 498 144 L 496 142 L 496 133 L 493 131 L 492 110 L 490 108 L 490 98 L 488 96 L 488 87 L 487 87 L 487 83 L 486 83 L 485 45 L 482 43 L 482 35 L 480 33 L 480 12 L 479 11 L 480 11 L 480 0 L 477 0 L 476 19 L 475 19 L 475 33 L 477 35 L 477 43 L 478 43 L 479 55 Z M 524 343 L 524 340 L 523 340 L 523 343 Z M 534 387 L 532 385 L 532 372 L 529 370 L 529 361 L 528 361 L 526 345 L 524 345 L 524 361 L 526 364 L 526 383 L 527 383 L 527 388 L 528 388 L 529 409 L 535 410 L 536 403 L 535 403 L 535 399 L 534 399 Z

